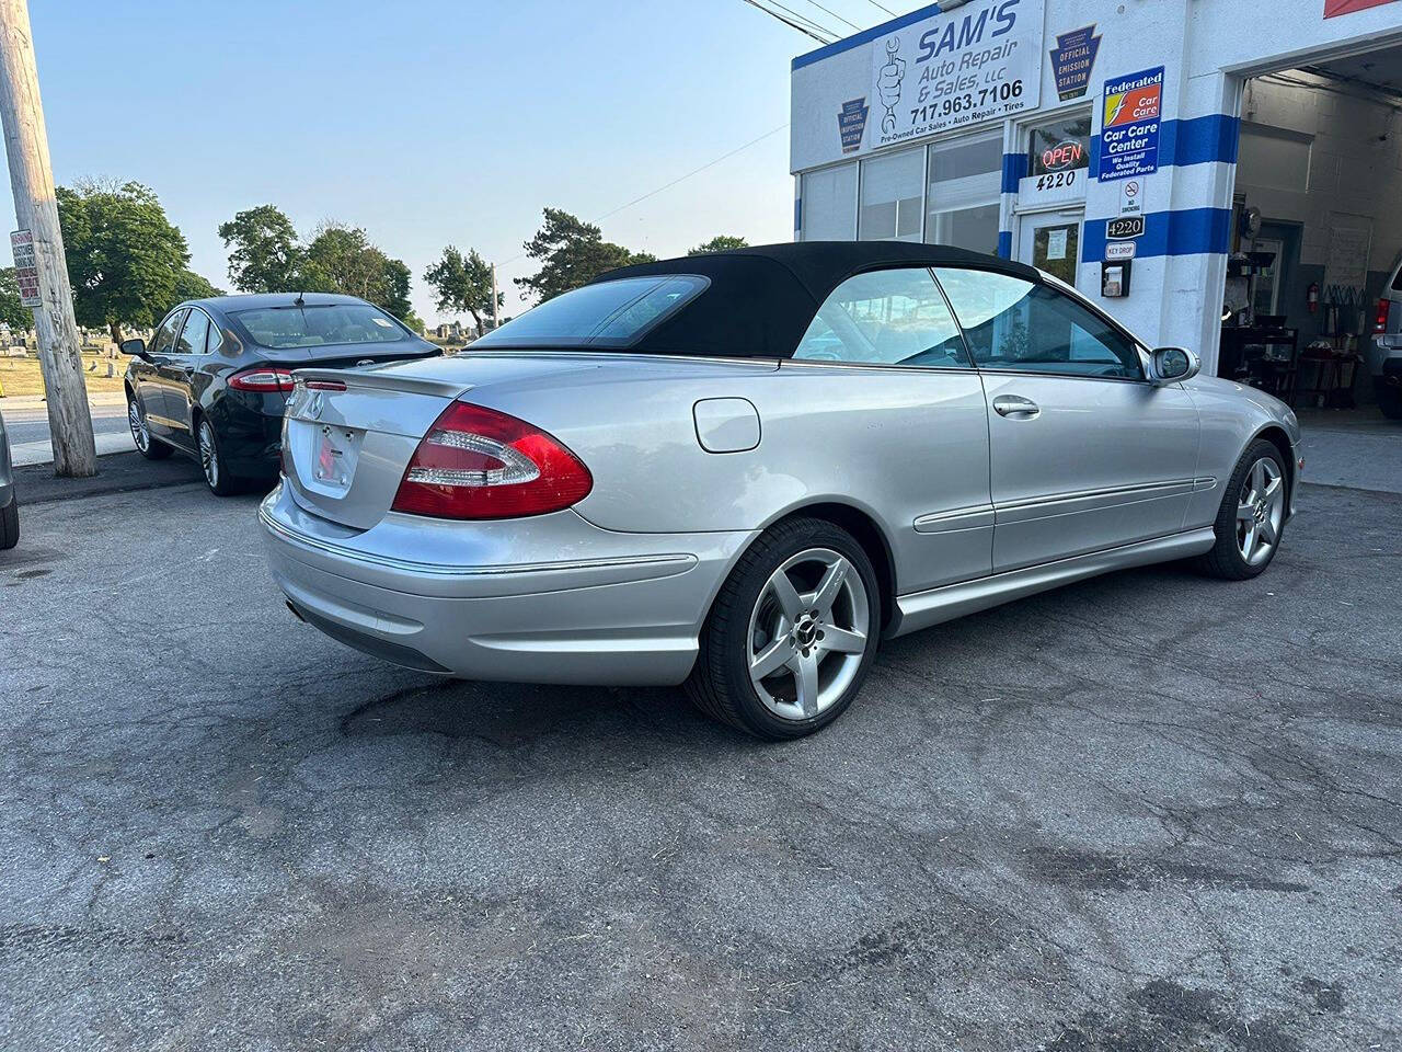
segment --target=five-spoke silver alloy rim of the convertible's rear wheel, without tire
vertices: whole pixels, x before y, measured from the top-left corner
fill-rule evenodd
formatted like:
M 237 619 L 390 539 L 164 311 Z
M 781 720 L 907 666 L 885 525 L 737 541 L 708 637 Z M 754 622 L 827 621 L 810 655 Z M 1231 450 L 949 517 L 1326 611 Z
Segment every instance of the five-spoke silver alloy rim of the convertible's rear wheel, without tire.
M 781 720 L 812 720 L 843 697 L 869 645 L 871 606 L 857 567 L 831 548 L 785 560 L 750 614 L 750 682 Z

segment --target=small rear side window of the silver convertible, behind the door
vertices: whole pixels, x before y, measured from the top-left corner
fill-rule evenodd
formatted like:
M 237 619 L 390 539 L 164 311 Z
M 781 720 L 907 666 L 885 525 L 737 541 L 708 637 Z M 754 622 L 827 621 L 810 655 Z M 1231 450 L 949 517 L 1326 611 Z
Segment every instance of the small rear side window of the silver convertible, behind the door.
M 924 369 L 967 369 L 955 324 L 930 271 L 872 271 L 848 278 L 817 309 L 794 358 Z

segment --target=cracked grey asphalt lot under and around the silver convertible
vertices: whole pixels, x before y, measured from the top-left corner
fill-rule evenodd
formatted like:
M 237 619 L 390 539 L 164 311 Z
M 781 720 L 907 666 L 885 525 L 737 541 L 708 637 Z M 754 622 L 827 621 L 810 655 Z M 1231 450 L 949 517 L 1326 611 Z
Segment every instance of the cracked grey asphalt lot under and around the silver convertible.
M 0 1048 L 1402 1046 L 1402 495 L 899 640 L 763 745 L 345 649 L 255 497 L 164 478 L 35 476 L 0 554 Z

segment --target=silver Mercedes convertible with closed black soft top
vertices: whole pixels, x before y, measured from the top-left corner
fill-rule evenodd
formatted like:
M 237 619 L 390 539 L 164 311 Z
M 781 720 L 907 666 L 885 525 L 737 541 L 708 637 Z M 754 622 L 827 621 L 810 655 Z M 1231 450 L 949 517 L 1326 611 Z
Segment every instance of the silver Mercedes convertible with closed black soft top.
M 686 683 L 795 738 L 851 704 L 883 638 L 1124 567 L 1265 571 L 1298 422 L 1197 370 L 953 248 L 669 259 L 468 353 L 297 372 L 259 516 L 293 613 L 350 647 Z

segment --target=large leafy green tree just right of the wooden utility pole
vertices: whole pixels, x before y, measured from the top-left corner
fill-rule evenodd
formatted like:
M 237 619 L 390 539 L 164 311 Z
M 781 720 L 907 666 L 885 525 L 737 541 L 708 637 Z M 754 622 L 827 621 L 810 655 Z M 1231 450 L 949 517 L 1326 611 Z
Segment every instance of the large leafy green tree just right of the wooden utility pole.
M 146 328 L 179 302 L 189 250 L 160 199 L 140 182 L 59 187 L 59 223 L 80 325 Z

